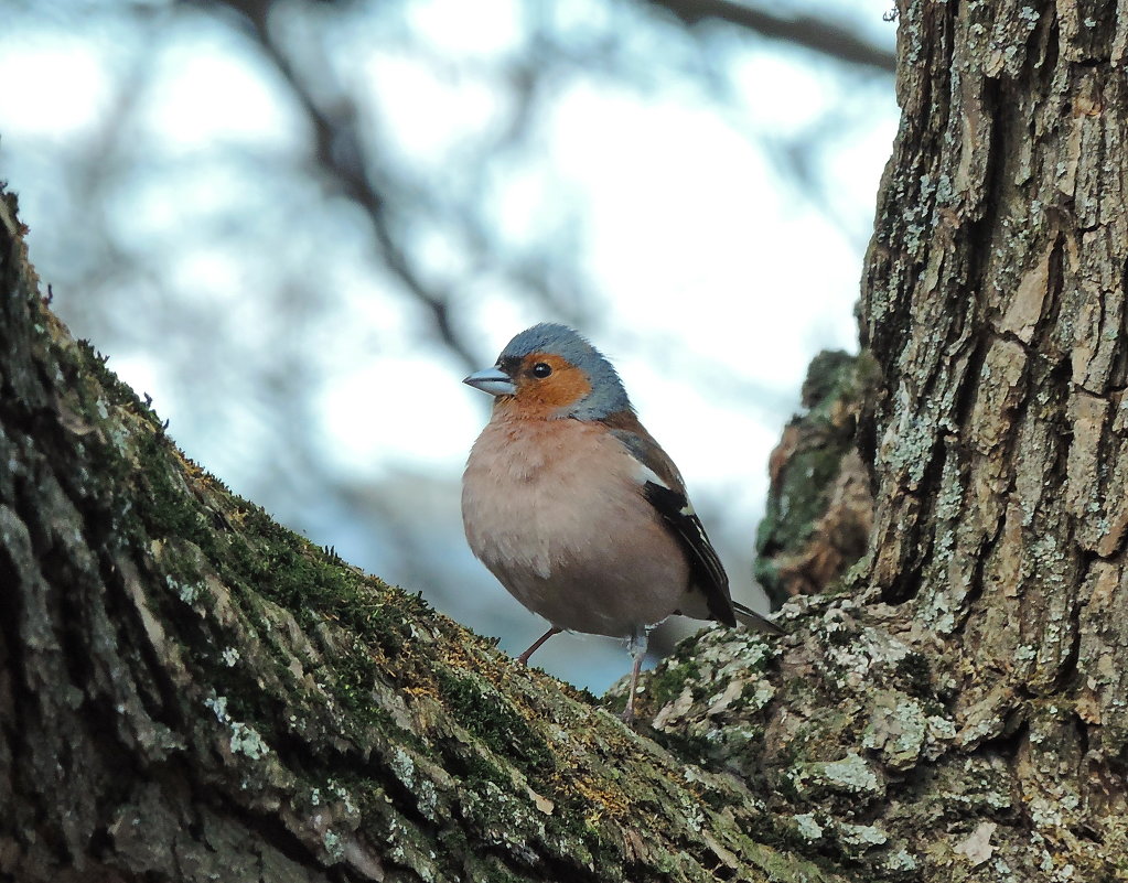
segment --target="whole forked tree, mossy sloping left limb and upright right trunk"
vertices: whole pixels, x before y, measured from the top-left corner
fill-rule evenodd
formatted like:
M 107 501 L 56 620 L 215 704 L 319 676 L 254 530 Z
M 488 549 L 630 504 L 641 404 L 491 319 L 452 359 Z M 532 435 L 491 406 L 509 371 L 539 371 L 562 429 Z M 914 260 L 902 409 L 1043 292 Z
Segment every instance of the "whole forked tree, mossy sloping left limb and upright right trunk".
M 0 201 L 0 875 L 1128 878 L 1128 9 L 900 19 L 869 553 L 643 733 L 185 461 Z

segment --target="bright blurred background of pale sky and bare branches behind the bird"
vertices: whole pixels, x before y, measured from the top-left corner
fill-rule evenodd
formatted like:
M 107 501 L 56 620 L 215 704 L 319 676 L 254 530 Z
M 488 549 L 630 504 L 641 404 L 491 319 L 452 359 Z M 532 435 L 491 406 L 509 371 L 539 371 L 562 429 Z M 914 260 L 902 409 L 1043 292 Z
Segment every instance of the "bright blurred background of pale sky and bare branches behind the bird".
M 461 537 L 459 380 L 563 320 L 755 603 L 768 453 L 854 348 L 887 6 L 0 0 L 0 178 L 73 332 L 317 542 L 527 644 Z M 602 689 L 619 654 L 539 659 Z

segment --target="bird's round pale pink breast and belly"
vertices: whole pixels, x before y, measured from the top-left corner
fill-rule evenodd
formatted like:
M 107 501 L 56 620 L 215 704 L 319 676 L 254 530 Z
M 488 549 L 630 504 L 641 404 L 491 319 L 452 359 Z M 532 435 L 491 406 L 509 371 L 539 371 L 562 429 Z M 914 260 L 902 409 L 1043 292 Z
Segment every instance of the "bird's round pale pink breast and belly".
M 567 457 L 546 456 L 535 431 L 486 427 L 464 479 L 466 536 L 502 585 L 553 625 L 629 636 L 678 608 L 688 566 L 642 497 L 633 458 L 566 423 L 550 429 Z

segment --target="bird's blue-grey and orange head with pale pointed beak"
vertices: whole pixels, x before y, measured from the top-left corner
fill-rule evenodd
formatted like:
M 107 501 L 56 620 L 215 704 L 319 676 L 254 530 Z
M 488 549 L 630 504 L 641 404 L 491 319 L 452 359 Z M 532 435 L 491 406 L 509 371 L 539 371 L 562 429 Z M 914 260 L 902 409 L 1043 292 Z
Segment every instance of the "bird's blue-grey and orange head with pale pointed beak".
M 611 363 L 566 325 L 527 328 L 505 345 L 493 368 L 462 382 L 521 416 L 602 420 L 631 409 Z

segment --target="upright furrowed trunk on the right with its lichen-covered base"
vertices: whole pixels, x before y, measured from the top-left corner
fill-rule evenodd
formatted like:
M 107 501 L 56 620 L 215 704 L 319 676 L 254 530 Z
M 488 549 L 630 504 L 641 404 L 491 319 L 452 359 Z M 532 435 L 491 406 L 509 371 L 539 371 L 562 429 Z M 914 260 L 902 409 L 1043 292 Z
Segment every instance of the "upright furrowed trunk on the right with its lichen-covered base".
M 860 878 L 1125 880 L 1128 7 L 899 12 L 867 556 L 764 671 L 710 635 L 651 708 Z

